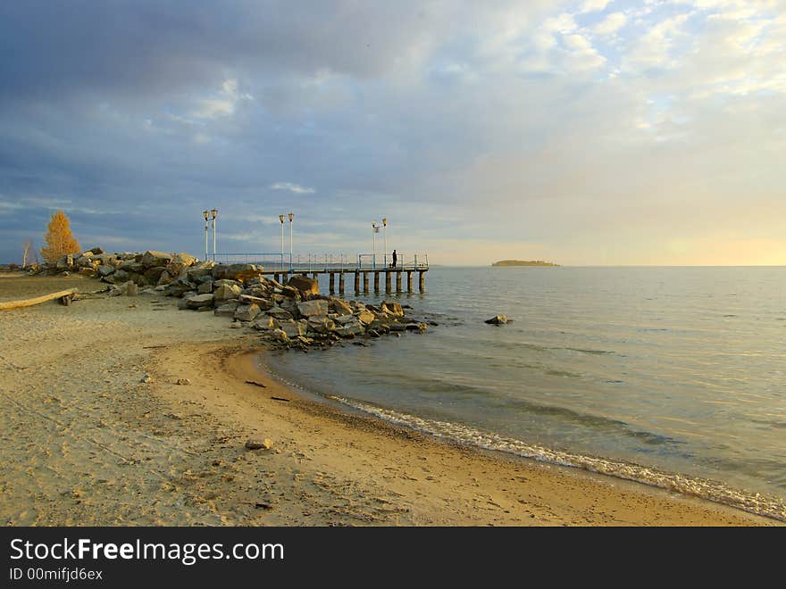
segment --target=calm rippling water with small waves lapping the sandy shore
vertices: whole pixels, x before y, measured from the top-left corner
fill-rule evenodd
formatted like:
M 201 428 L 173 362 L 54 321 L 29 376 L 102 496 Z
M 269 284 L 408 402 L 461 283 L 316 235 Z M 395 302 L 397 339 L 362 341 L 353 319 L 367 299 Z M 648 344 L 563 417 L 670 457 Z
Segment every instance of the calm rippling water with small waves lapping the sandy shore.
M 398 299 L 427 334 L 270 368 L 435 436 L 786 518 L 786 268 L 439 268 L 426 287 Z

